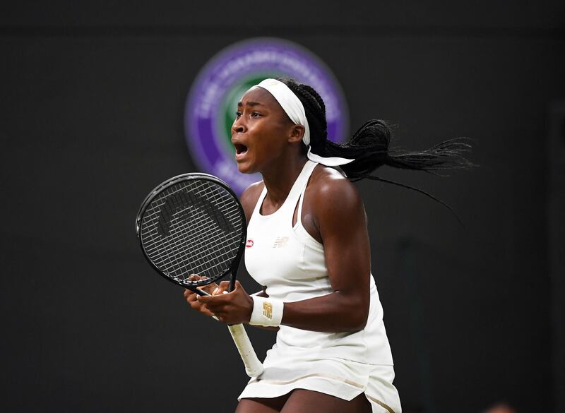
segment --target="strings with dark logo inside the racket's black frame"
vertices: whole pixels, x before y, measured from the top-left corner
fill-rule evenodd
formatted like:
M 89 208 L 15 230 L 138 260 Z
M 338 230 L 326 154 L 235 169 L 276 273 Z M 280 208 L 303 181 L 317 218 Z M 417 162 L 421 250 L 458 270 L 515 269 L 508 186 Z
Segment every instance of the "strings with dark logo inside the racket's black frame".
M 141 220 L 145 253 L 162 273 L 187 284 L 217 278 L 237 256 L 244 217 L 237 200 L 211 181 L 192 179 L 155 196 Z

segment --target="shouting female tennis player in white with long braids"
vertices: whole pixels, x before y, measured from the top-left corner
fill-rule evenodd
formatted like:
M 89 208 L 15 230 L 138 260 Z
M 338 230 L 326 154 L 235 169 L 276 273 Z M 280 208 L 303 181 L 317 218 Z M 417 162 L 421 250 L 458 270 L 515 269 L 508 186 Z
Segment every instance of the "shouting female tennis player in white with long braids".
M 278 330 L 265 370 L 239 396 L 237 413 L 400 413 L 391 347 L 371 275 L 367 215 L 351 181 L 383 165 L 433 171 L 467 167 L 465 143 L 388 150 L 371 120 L 348 143 L 326 136 L 326 109 L 308 85 L 266 79 L 238 103 L 232 143 L 239 172 L 263 181 L 241 196 L 246 268 L 263 290 L 237 282 L 186 290 L 193 309 L 229 324 Z M 378 179 L 378 178 L 376 178 Z M 194 276 L 198 277 L 198 276 Z

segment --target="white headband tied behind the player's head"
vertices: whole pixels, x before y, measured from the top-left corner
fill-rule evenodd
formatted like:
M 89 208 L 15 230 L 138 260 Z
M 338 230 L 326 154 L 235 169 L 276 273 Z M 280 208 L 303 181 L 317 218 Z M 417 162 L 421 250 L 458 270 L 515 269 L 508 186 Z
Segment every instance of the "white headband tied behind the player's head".
M 300 102 L 297 95 L 295 95 L 295 93 L 292 92 L 287 85 L 285 85 L 285 83 L 276 79 L 265 79 L 256 86 L 267 90 L 271 95 L 273 95 L 275 100 L 277 100 L 280 104 L 280 107 L 283 108 L 295 125 L 304 126 L 302 142 L 304 142 L 304 145 L 307 145 L 308 147 L 309 160 L 318 162 L 319 164 L 324 164 L 328 167 L 337 167 L 354 161 L 345 157 L 321 157 L 320 155 L 312 153 L 312 147 L 310 145 L 310 128 L 308 126 L 308 119 L 306 119 L 304 105 Z

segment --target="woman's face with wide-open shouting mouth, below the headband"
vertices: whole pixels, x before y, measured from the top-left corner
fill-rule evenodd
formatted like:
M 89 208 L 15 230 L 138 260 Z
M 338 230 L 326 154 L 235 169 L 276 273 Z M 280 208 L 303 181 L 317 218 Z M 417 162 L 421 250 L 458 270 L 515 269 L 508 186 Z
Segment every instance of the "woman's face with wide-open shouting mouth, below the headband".
M 237 104 L 232 125 L 239 172 L 253 174 L 268 169 L 287 148 L 296 126 L 267 90 L 248 90 Z

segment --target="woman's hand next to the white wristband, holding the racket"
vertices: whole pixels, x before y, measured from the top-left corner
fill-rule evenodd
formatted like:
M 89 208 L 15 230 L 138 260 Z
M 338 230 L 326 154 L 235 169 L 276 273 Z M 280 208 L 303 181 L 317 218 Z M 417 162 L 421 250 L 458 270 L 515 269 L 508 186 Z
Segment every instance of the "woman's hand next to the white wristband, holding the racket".
M 219 321 L 226 324 L 249 323 L 253 311 L 253 299 L 239 283 L 235 282 L 232 292 L 224 293 L 230 282 L 220 282 L 220 287 L 211 296 L 198 296 L 198 301 L 206 304 L 206 309 L 214 313 Z

